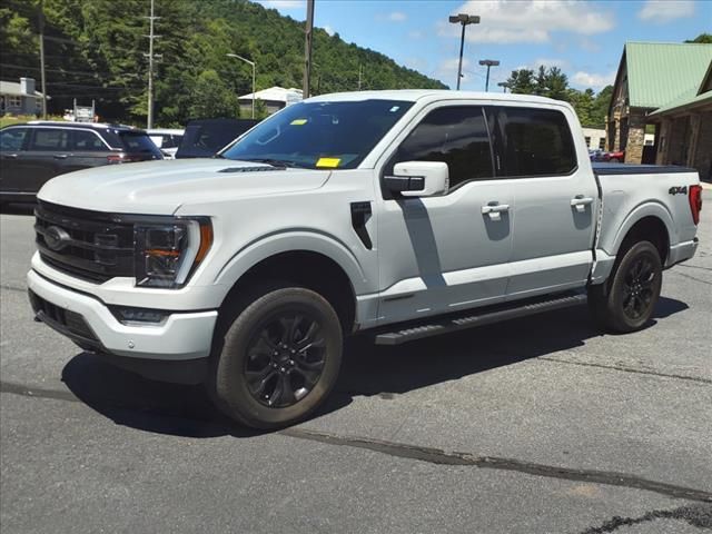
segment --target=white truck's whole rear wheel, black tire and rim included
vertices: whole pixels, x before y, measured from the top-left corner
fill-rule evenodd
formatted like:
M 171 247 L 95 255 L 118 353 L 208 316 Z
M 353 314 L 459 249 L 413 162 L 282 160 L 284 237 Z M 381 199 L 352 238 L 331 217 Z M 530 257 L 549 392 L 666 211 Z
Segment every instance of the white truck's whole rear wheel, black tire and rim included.
M 650 241 L 639 241 L 619 254 L 611 278 L 589 288 L 594 318 L 607 330 L 636 332 L 650 322 L 662 287 L 662 261 Z

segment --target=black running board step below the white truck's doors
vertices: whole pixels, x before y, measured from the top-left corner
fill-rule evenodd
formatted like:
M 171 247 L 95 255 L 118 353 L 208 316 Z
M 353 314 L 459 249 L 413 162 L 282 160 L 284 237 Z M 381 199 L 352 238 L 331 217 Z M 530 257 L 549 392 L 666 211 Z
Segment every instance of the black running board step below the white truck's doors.
M 554 309 L 580 306 L 586 303 L 586 295 L 582 293 L 563 293 L 556 296 L 530 298 L 504 305 L 495 305 L 475 310 L 468 315 L 433 317 L 428 322 L 409 324 L 407 328 L 395 332 L 384 332 L 375 337 L 376 345 L 400 345 L 402 343 L 414 342 L 424 337 L 449 334 L 452 332 L 474 328 L 476 326 L 490 325 L 502 320 L 526 317 L 528 315 L 552 312 Z

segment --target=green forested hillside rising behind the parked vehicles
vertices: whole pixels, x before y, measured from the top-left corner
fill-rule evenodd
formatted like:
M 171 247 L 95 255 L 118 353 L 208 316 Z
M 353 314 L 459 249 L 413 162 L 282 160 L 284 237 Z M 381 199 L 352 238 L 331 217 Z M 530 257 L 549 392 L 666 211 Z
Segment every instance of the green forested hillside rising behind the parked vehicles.
M 304 22 L 247 0 L 155 0 L 156 125 L 192 117 L 235 116 L 237 96 L 257 89 L 301 88 Z M 40 0 L 0 0 L 0 67 L 3 80 L 30 76 L 40 82 Z M 147 112 L 149 0 L 43 0 L 47 92 L 50 111 L 73 98 L 97 100 L 99 115 L 142 123 Z M 445 88 L 386 56 L 314 32 L 313 93 L 363 89 Z

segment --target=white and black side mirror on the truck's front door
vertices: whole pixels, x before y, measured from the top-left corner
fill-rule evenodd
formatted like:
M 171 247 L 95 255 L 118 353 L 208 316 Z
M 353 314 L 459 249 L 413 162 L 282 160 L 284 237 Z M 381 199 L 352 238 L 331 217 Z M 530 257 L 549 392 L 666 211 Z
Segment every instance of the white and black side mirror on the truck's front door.
M 435 197 L 447 194 L 449 171 L 443 161 L 404 161 L 384 177 L 386 187 L 404 197 Z

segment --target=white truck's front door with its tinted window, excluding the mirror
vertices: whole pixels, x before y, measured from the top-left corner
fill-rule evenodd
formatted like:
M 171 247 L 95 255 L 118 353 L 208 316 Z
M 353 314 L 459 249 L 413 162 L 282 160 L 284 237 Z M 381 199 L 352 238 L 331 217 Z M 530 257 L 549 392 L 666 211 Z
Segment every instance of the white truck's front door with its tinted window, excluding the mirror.
M 378 207 L 379 319 L 408 320 L 504 299 L 512 253 L 513 190 L 494 178 L 484 110 L 434 105 L 383 158 L 444 161 L 449 192 L 403 198 L 383 190 Z

